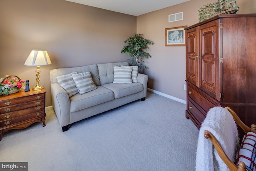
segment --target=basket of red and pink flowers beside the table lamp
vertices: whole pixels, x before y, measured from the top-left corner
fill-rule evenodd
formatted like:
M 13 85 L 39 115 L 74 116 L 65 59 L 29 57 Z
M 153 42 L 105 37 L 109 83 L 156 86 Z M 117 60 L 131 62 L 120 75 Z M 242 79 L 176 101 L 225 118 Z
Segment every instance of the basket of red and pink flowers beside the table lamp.
M 17 76 L 6 76 L 5 78 L 0 78 L 0 95 L 1 94 L 12 94 L 16 93 L 23 87 L 22 81 Z

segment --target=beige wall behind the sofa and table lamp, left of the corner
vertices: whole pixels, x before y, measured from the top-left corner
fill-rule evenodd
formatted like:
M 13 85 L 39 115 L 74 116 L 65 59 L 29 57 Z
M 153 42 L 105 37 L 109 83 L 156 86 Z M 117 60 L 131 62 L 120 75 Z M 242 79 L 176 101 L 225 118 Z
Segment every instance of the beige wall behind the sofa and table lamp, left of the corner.
M 36 66 L 24 62 L 32 49 L 46 49 L 52 65 L 40 67 L 40 84 L 50 106 L 51 69 L 124 62 L 120 52 L 134 32 L 136 16 L 65 0 L 0 0 L 0 78 L 36 85 Z

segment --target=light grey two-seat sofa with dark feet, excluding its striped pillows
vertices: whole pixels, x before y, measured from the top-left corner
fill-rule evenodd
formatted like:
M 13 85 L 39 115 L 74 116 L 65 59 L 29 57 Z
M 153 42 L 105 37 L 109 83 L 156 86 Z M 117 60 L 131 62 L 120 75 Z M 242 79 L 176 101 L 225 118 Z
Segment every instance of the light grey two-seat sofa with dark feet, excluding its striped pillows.
M 67 131 L 72 123 L 93 115 L 114 109 L 126 103 L 145 100 L 148 76 L 138 74 L 138 82 L 116 84 L 114 66 L 128 66 L 127 62 L 93 64 L 74 68 L 58 68 L 50 71 L 52 106 L 58 117 L 62 131 Z M 58 84 L 56 77 L 72 72 L 90 72 L 96 89 L 69 97 L 67 91 Z

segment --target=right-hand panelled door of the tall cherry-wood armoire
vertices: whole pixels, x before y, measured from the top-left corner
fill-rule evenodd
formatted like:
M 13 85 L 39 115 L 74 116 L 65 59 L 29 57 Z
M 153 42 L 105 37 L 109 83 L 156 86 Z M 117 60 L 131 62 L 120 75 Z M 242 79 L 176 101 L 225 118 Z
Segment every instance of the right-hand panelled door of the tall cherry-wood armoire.
M 219 20 L 199 26 L 200 89 L 220 101 Z

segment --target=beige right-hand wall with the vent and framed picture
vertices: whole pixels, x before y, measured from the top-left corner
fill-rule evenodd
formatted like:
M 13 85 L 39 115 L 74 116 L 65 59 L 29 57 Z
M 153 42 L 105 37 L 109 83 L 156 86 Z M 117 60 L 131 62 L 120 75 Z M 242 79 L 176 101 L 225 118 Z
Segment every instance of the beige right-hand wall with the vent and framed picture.
M 186 62 L 185 46 L 165 46 L 165 28 L 191 26 L 198 22 L 198 8 L 215 0 L 190 0 L 182 4 L 164 8 L 137 17 L 137 33 L 155 42 L 149 46 L 152 58 L 146 60 L 149 75 L 148 87 L 161 93 L 186 100 Z M 256 0 L 236 0 L 239 8 L 237 14 L 255 13 Z M 184 12 L 184 20 L 168 22 L 168 15 Z

